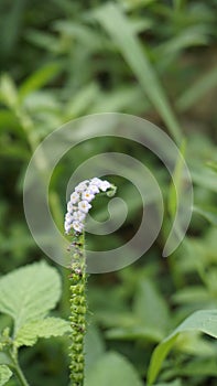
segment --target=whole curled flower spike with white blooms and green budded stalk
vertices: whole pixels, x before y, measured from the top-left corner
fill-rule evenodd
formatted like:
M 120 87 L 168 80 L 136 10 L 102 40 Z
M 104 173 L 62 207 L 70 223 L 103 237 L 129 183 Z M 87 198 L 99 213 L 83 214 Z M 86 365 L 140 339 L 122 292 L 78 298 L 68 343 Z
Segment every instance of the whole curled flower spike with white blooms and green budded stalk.
M 72 236 L 69 250 L 70 261 L 70 326 L 72 345 L 70 380 L 72 386 L 84 385 L 84 337 L 86 332 L 86 254 L 85 254 L 85 219 L 91 208 L 91 203 L 97 194 L 106 194 L 111 197 L 116 193 L 116 186 L 106 180 L 94 178 L 80 182 L 70 194 L 65 215 L 65 233 Z

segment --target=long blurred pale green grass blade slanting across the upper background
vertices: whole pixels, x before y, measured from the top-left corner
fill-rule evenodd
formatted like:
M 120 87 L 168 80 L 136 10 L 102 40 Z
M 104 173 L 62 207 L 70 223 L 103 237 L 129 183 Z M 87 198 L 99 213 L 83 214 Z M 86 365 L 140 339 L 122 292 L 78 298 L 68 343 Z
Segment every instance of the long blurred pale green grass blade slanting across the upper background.
M 108 3 L 94 11 L 94 15 L 119 47 L 149 99 L 166 122 L 171 135 L 180 141 L 182 137 L 180 125 L 149 61 L 145 47 L 141 45 L 121 8 L 115 3 Z

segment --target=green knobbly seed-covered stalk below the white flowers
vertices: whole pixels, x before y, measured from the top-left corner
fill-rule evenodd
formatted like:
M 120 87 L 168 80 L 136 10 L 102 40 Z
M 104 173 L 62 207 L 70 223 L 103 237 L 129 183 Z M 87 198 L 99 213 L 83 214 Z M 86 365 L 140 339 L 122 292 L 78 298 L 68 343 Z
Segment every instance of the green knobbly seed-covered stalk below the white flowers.
M 86 333 L 86 257 L 84 234 L 76 237 L 73 243 L 73 260 L 70 265 L 70 326 L 72 345 L 69 347 L 70 356 L 70 385 L 84 385 L 85 354 L 84 341 Z

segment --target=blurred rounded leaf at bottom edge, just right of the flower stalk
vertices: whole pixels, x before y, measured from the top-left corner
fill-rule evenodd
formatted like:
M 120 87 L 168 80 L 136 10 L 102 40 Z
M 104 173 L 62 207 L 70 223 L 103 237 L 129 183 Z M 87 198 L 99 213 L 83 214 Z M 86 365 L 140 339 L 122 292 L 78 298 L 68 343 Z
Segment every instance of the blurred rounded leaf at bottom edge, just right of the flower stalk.
M 134 367 L 122 355 L 107 353 L 87 373 L 85 386 L 143 386 Z

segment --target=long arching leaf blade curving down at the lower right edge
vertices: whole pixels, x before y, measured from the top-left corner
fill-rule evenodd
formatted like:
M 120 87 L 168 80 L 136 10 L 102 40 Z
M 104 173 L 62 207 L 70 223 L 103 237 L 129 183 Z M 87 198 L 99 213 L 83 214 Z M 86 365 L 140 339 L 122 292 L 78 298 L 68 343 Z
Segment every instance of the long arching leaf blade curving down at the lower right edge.
M 160 372 L 162 363 L 172 346 L 176 342 L 178 335 L 188 331 L 203 332 L 213 337 L 217 337 L 217 311 L 200 310 L 194 312 L 181 323 L 171 335 L 165 337 L 161 344 L 154 350 L 148 372 L 148 384 L 152 385 Z

